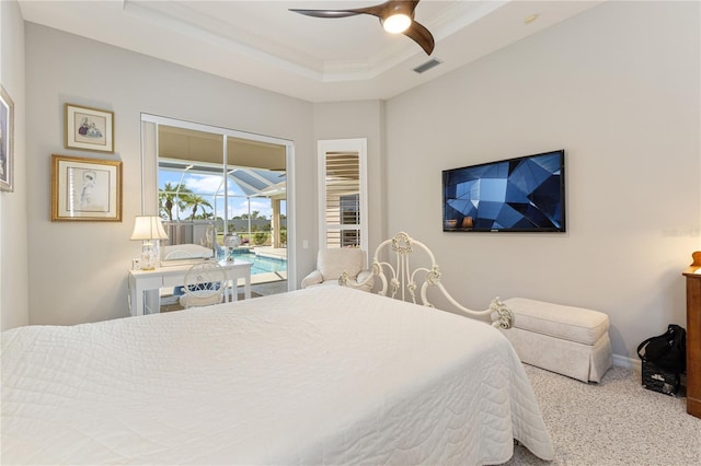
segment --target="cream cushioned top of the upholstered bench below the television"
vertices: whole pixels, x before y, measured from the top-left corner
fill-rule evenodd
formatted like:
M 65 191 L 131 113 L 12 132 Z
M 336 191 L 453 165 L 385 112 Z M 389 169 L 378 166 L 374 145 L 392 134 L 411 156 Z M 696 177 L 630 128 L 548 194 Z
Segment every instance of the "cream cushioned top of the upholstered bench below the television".
M 525 298 L 504 303 L 514 312 L 514 327 L 536 334 L 594 345 L 609 329 L 609 316 L 602 312 Z

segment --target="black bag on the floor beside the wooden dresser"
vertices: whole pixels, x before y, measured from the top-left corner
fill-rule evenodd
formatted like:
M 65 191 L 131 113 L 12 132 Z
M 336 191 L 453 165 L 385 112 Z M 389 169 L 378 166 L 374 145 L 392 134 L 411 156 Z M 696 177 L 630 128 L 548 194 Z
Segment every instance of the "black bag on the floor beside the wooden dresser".
M 687 330 L 669 324 L 667 331 L 647 338 L 637 346 L 637 357 L 673 374 L 687 370 Z

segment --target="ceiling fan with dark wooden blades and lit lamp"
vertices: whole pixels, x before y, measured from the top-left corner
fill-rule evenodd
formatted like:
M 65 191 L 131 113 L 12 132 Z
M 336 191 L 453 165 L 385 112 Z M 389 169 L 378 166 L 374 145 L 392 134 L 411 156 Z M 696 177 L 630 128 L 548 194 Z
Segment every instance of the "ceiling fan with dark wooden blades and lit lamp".
M 358 14 L 370 14 L 380 19 L 380 24 L 388 33 L 404 34 L 424 49 L 427 55 L 434 51 L 434 36 L 428 30 L 414 21 L 414 10 L 420 0 L 392 0 L 374 7 L 350 8 L 347 10 L 300 10 L 289 9 L 295 13 L 314 18 L 347 18 Z

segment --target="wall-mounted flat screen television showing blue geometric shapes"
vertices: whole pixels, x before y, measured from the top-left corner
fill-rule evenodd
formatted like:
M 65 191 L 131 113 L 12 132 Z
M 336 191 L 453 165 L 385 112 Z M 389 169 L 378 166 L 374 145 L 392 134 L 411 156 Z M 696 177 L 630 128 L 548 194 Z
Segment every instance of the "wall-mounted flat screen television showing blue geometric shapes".
M 564 232 L 565 151 L 443 172 L 445 232 Z

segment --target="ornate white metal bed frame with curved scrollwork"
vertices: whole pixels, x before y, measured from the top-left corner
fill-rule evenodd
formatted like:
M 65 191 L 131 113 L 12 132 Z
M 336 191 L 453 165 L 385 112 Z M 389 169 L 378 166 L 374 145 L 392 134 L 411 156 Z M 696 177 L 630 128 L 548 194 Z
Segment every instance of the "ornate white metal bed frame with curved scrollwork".
M 379 259 L 383 252 L 382 249 L 388 247 L 389 249 L 387 255 L 390 257 L 390 260 L 392 257 L 391 253 L 394 253 L 394 265 L 389 261 L 380 261 Z M 428 255 L 428 258 L 430 259 L 430 268 L 417 267 L 414 270 L 411 270 L 410 257 L 412 253 L 414 253 L 415 248 L 422 249 Z M 436 264 L 436 257 L 430 249 L 424 243 L 412 238 L 404 232 L 400 232 L 394 237 L 383 241 L 377 249 L 375 249 L 375 256 L 372 257 L 372 275 L 369 276 L 367 280 L 356 283 L 354 280 L 349 279 L 347 273 L 344 272 L 338 279 L 338 283 L 345 287 L 359 288 L 369 283 L 375 277 L 378 277 L 382 284 L 381 289 L 378 291 L 378 294 L 382 296 L 387 296 L 389 291 L 390 298 L 434 307 L 434 305 L 428 302 L 426 291 L 428 290 L 428 287 L 435 287 L 444 296 L 446 296 L 450 304 L 470 317 L 490 316 L 492 318 L 492 326 L 497 328 L 512 328 L 514 325 L 514 313 L 506 304 L 499 301 L 498 296 L 492 300 L 490 308 L 484 311 L 473 311 L 458 303 L 440 282 L 440 268 Z M 421 284 L 420 301 L 417 302 L 416 280 L 422 277 L 424 281 Z

